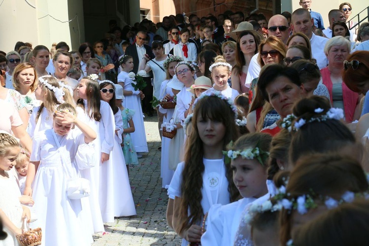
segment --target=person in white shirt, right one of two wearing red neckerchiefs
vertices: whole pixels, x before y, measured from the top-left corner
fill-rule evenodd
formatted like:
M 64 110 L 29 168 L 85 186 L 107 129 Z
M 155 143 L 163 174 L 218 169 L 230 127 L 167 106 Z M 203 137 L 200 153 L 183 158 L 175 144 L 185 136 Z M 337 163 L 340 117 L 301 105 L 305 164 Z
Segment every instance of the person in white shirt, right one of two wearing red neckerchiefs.
M 189 30 L 183 28 L 180 32 L 181 41 L 174 45 L 173 55 L 180 56 L 184 61 L 194 62 L 197 60 L 196 44 L 188 42 Z

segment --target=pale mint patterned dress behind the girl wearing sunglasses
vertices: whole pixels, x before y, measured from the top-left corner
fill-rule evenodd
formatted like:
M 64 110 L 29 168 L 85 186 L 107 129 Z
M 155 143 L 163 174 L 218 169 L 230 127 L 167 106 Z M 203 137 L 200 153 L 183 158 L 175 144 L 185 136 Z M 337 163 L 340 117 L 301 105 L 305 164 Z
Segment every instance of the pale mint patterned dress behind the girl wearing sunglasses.
M 128 121 L 132 119 L 134 110 L 129 108 L 124 108 L 122 110 L 122 118 L 123 118 L 123 129 L 129 128 Z M 131 134 L 123 132 L 123 155 L 125 159 L 125 163 L 128 164 L 138 164 L 137 153 L 134 149 L 134 145 L 132 144 Z

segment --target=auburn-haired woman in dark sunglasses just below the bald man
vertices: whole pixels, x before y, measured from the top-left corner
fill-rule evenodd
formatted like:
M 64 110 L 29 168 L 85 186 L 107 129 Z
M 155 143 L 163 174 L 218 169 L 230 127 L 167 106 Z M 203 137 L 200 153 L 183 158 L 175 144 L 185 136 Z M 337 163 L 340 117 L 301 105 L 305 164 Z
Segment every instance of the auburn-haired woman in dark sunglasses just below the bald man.
M 283 64 L 286 57 L 286 46 L 276 36 L 270 36 L 259 45 L 258 62 L 261 68 L 268 64 Z M 259 78 L 254 78 L 249 91 L 249 113 L 247 114 L 246 127 L 250 133 L 260 131 L 274 124 L 279 119 L 279 114 L 272 105 L 266 102 L 256 88 Z

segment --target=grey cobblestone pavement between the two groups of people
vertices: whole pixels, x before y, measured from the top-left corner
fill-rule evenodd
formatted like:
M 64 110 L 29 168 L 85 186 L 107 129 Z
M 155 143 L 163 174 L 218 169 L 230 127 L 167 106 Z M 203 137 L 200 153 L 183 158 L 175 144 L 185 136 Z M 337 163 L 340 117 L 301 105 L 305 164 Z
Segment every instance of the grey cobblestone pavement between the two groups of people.
M 130 167 L 129 181 L 136 204 L 136 216 L 116 218 L 105 224 L 106 234 L 93 237 L 92 246 L 176 246 L 182 239 L 165 219 L 168 196 L 161 188 L 160 137 L 157 117 L 145 118 L 149 153 L 139 159 L 139 165 Z

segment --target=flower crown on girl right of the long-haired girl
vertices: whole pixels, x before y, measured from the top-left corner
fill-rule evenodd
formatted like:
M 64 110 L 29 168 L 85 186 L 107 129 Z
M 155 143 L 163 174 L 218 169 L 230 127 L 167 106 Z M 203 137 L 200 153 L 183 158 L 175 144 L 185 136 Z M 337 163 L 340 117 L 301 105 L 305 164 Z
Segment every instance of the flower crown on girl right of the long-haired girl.
M 233 142 L 231 141 L 228 145 L 229 148 L 232 148 Z M 254 148 L 244 148 L 243 150 L 228 150 L 222 151 L 223 154 L 228 159 L 226 162 L 230 163 L 230 160 L 234 160 L 237 157 L 241 156 L 242 159 L 253 160 L 256 159 L 261 164 L 261 166 L 265 166 L 267 159 L 269 158 L 269 152 L 262 150 L 258 147 L 259 143 L 256 144 Z

